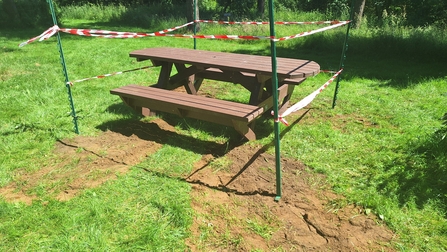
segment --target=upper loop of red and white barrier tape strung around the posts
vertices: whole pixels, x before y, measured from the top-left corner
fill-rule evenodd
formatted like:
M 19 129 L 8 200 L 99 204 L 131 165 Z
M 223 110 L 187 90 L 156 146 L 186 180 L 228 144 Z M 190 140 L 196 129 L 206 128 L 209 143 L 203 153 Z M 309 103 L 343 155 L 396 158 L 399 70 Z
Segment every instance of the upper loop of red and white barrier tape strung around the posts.
M 226 22 L 226 21 L 210 21 L 210 20 L 196 20 L 195 22 L 217 22 L 217 23 L 228 23 L 228 24 L 265 24 L 268 22 Z M 292 36 L 286 36 L 282 38 L 275 38 L 273 36 L 239 36 L 239 35 L 187 35 L 187 34 L 168 34 L 168 32 L 172 32 L 175 30 L 178 30 L 180 28 L 189 26 L 194 24 L 194 22 L 189 22 L 184 25 L 176 26 L 170 29 L 165 29 L 158 32 L 152 32 L 152 33 L 143 33 L 143 32 L 117 32 L 117 31 L 107 31 L 107 30 L 91 30 L 91 29 L 70 29 L 70 28 L 59 28 L 57 25 L 49 28 L 45 32 L 43 32 L 41 35 L 34 37 L 32 39 L 29 39 L 25 42 L 22 42 L 19 44 L 19 47 L 23 47 L 27 44 L 30 44 L 34 42 L 35 40 L 39 39 L 39 41 L 45 40 L 53 36 L 56 32 L 65 32 L 73 35 L 80 35 L 80 36 L 90 36 L 90 37 L 101 37 L 101 38 L 141 38 L 141 37 L 150 37 L 150 36 L 160 36 L 160 37 L 179 37 L 179 38 L 199 38 L 199 39 L 246 39 L 246 40 L 260 40 L 260 39 L 267 39 L 267 40 L 273 40 L 273 41 L 283 41 L 298 37 L 304 37 L 311 34 L 315 34 L 318 32 L 330 30 L 333 28 L 337 28 L 343 25 L 348 24 L 350 21 L 317 21 L 317 22 L 275 22 L 277 24 L 331 24 L 330 26 L 302 32 L 296 35 Z

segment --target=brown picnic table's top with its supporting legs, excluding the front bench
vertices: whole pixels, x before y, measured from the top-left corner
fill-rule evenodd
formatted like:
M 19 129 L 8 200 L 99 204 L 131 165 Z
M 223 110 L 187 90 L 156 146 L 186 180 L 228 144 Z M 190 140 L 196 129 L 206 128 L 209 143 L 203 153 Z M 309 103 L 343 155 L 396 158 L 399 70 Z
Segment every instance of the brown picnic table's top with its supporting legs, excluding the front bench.
M 197 94 L 204 79 L 241 84 L 250 91 L 251 105 L 259 105 L 272 96 L 271 57 L 239 53 L 213 52 L 185 48 L 156 47 L 130 53 L 138 61 L 151 60 L 161 66 L 157 87 L 172 90 L 184 86 L 189 94 Z M 177 73 L 171 75 L 172 67 Z M 320 72 L 314 61 L 277 57 L 279 86 L 297 85 Z M 293 92 L 291 86 L 282 106 Z

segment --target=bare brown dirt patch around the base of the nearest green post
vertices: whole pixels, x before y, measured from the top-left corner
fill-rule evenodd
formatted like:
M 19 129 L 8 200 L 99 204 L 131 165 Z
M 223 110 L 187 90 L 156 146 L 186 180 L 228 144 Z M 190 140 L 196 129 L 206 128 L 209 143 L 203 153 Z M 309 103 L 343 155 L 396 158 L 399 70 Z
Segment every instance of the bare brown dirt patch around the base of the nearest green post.
M 192 251 L 393 251 L 394 235 L 381 220 L 342 204 L 325 189 L 325 178 L 302 163 L 281 160 L 276 202 L 275 159 L 263 148 L 233 149 L 222 161 L 231 164 L 227 170 L 208 158 L 187 178 L 198 213 Z

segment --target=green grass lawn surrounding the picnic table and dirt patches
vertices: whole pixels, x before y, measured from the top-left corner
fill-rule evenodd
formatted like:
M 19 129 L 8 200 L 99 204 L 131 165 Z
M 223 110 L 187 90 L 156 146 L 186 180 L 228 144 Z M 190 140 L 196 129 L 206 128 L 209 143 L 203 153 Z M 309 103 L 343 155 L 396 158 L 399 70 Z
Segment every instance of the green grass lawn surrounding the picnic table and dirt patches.
M 302 20 L 287 15 L 278 15 L 278 20 L 281 17 Z M 312 15 L 319 19 L 318 14 Z M 163 20 L 152 24 L 151 31 L 180 23 L 183 22 Z M 64 20 L 64 25 L 141 31 L 141 26 L 114 26 L 70 18 Z M 207 34 L 228 31 L 221 30 L 222 27 L 202 28 Z M 229 29 L 234 29 L 229 31 L 235 34 L 265 32 L 243 27 Z M 279 34 L 290 35 L 278 29 Z M 296 118 L 292 116 L 289 119 L 292 126 L 281 126 L 285 132 L 282 155 L 299 159 L 326 174 L 332 188 L 347 196 L 348 200 L 342 204 L 361 205 L 382 216 L 398 235 L 395 247 L 401 251 L 447 248 L 447 154 L 437 134 L 442 127 L 440 118 L 447 112 L 447 72 L 443 58 L 447 47 L 445 33 L 440 31 L 401 30 L 400 35 L 395 35 L 392 30 L 381 30 L 380 34 L 353 30 L 336 109 L 330 108 L 332 84 L 317 96 L 306 120 L 294 124 Z M 0 31 L 0 186 L 15 181 L 17 170 L 37 171 L 54 162 L 51 151 L 56 140 L 75 136 L 55 38 L 17 47 L 41 32 Z M 278 44 L 278 55 L 312 59 L 323 69 L 334 70 L 338 68 L 343 36 L 343 32 L 328 32 L 286 41 Z M 192 48 L 191 40 L 161 37 L 105 40 L 63 34 L 62 43 L 71 80 L 142 66 L 143 63 L 128 57 L 128 52 L 135 49 L 160 45 Z M 402 48 L 397 50 L 399 46 Z M 269 52 L 265 41 L 199 40 L 198 48 L 267 55 Z M 384 52 L 380 52 L 382 48 Z M 402 53 L 406 56 L 400 56 Z M 76 83 L 72 91 L 81 134 L 95 136 L 120 122 L 138 120 L 121 105 L 118 97 L 108 92 L 123 83 L 154 83 L 157 71 L 146 69 Z M 305 97 L 328 78 L 320 74 L 308 79 L 297 88 L 293 100 Z M 210 85 L 217 88 L 220 84 Z M 225 90 L 228 92 L 216 95 L 245 100 L 238 89 Z M 182 121 L 177 130 L 183 136 L 204 142 L 224 143 L 235 136 L 231 129 L 194 120 Z M 257 143 L 269 143 L 271 127 L 258 130 L 265 137 Z M 193 215 L 189 205 L 190 186 L 174 178 L 187 174 L 191 164 L 201 158 L 204 148 L 193 147 L 181 137 L 168 139 L 163 148 L 130 173 L 67 202 L 45 195 L 42 188 L 53 185 L 35 188 L 40 198 L 32 205 L 1 199 L 0 248 L 3 251 L 184 250 Z M 219 170 L 224 169 L 225 163 L 222 158 L 212 165 Z M 150 172 L 142 169 L 145 167 L 150 167 Z M 231 210 L 225 206 L 212 207 L 218 215 Z M 228 220 L 235 221 L 231 215 Z M 269 220 L 265 216 L 265 220 L 250 219 L 243 225 L 268 239 L 276 228 Z M 204 248 L 207 242 L 236 245 L 240 242 L 241 237 L 229 237 L 225 232 L 221 237 L 209 237 L 210 228 L 213 227 L 202 227 L 200 238 Z

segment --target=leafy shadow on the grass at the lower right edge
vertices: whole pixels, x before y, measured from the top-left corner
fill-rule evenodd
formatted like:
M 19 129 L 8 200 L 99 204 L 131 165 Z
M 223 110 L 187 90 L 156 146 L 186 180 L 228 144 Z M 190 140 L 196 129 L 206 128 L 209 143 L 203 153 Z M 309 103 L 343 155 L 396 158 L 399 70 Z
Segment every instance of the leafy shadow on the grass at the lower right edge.
M 447 138 L 442 139 L 438 131 L 407 152 L 405 159 L 389 165 L 392 175 L 378 189 L 396 196 L 401 206 L 414 202 L 422 209 L 434 203 L 447 213 Z

